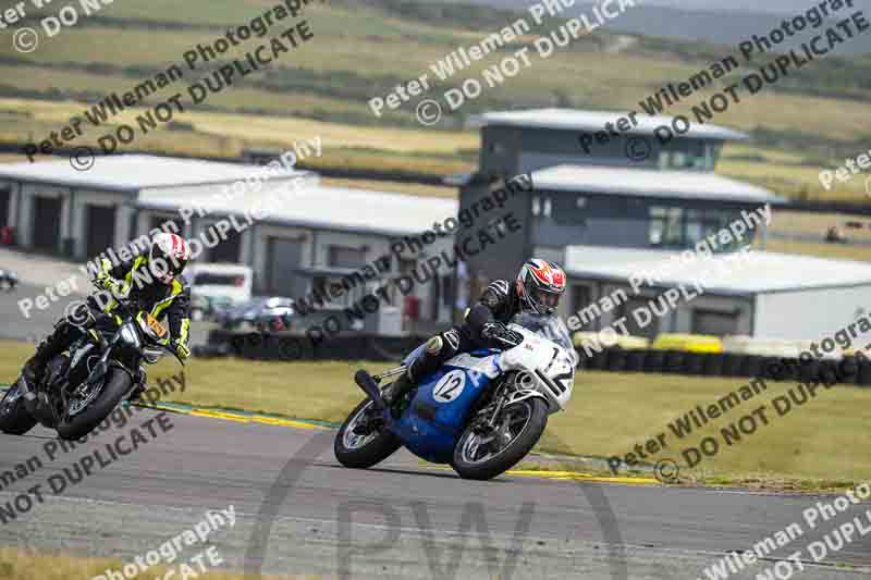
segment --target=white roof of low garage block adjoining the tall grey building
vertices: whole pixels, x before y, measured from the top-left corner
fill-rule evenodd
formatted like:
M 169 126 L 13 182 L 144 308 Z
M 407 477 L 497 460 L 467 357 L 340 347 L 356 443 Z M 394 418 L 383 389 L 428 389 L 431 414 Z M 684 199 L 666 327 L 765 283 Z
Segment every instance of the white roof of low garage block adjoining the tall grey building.
M 262 222 L 387 236 L 432 230 L 433 222 L 456 217 L 458 209 L 456 199 L 322 187 L 312 180 L 306 180 L 298 188 L 293 186 L 293 180 L 272 181 L 259 192 L 232 198 L 213 187 L 144 190 L 137 206 L 169 211 L 188 206 L 203 208 L 207 215 L 214 217 L 244 215 L 246 211 L 269 208 L 270 214 Z

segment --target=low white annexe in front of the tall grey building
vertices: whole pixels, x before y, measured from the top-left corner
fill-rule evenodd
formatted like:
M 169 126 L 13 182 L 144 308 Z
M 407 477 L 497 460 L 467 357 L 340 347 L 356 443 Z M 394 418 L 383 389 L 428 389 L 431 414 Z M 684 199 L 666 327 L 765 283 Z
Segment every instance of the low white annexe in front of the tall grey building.
M 802 341 L 830 336 L 871 308 L 869 263 L 761 249 L 695 261 L 680 254 L 567 247 L 569 293 L 584 295 L 565 305 L 569 325 L 599 331 L 625 318 L 630 334 L 651 338 L 677 332 Z M 659 280 L 643 280 L 663 266 Z

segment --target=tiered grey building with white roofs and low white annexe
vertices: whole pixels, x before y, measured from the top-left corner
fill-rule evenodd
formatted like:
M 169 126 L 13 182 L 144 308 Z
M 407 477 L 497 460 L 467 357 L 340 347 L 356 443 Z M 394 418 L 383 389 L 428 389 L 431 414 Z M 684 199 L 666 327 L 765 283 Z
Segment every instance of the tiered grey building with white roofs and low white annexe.
M 479 203 L 499 177 L 528 173 L 533 186 L 505 203 L 526 236 L 496 259 L 469 260 L 478 286 L 514 275 L 522 259 L 550 259 L 568 275 L 562 313 L 569 328 L 600 331 L 626 318 L 630 334 L 648 337 L 680 332 L 818 340 L 871 307 L 869 263 L 758 250 L 755 259 L 737 261 L 741 248 L 764 244 L 761 220 L 741 239 L 716 248 L 704 268 L 678 266 L 652 284 L 634 284 L 639 273 L 746 214 L 776 214 L 785 200 L 773 192 L 714 173 L 724 143 L 747 135 L 694 123 L 663 139 L 660 127 L 673 127 L 671 118 L 565 109 L 489 112 L 474 124 L 481 129 L 480 162 L 459 180 L 461 211 Z M 702 294 L 680 294 L 662 317 L 645 311 L 654 300 L 662 312 L 655 300 L 694 285 Z

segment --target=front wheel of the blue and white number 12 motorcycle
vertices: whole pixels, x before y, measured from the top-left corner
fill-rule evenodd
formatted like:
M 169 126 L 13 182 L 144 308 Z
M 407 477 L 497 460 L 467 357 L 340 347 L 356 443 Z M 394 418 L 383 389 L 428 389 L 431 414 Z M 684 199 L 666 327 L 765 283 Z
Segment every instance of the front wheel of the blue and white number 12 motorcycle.
M 495 429 L 466 428 L 454 448 L 454 469 L 464 479 L 487 480 L 516 465 L 548 427 L 548 404 L 528 398 L 502 410 Z

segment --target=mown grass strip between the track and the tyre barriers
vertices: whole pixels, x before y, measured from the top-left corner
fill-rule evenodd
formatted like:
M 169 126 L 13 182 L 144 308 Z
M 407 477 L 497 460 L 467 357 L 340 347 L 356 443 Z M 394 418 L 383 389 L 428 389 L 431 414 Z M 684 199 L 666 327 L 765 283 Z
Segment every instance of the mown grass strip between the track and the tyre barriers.
M 32 347 L 15 342 L 0 346 L 0 380 L 10 382 Z M 170 400 L 341 422 L 361 399 L 352 381 L 354 371 L 361 366 L 372 371 L 389 367 L 363 361 L 194 359 L 185 368 L 185 392 Z M 154 383 L 176 372 L 177 365 L 163 360 L 149 374 Z M 670 431 L 668 424 L 696 405 L 707 407 L 746 382 L 670 374 L 581 373 L 576 378 L 574 398 L 566 412 L 551 417 L 540 451 L 600 459 L 625 456 L 636 444 L 646 445 L 648 439 L 665 433 L 667 448 L 651 455 L 649 462 L 674 459 L 684 467 L 682 476 L 686 481 L 817 486 L 871 478 L 871 432 L 863 410 L 871 405 L 871 390 L 847 386 L 822 390 L 813 400 L 784 417 L 768 411 L 769 425 L 760 425 L 741 443 L 723 444 L 715 457 L 687 469 L 682 459 L 686 447 L 698 446 L 708 435 L 721 436 L 721 428 L 728 428 L 763 404 L 771 408 L 772 398 L 795 386 L 772 383 L 757 399 L 684 439 Z M 591 469 L 596 465 L 601 471 L 601 460 L 589 464 Z

